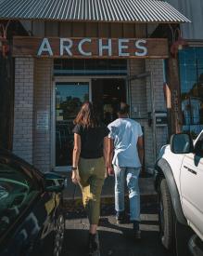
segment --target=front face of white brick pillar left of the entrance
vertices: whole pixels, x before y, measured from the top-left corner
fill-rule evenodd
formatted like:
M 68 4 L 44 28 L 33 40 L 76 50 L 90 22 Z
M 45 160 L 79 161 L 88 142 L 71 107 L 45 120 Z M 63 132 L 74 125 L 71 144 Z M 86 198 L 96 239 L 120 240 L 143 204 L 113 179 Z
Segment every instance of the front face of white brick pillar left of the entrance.
M 16 58 L 13 152 L 32 163 L 33 59 Z

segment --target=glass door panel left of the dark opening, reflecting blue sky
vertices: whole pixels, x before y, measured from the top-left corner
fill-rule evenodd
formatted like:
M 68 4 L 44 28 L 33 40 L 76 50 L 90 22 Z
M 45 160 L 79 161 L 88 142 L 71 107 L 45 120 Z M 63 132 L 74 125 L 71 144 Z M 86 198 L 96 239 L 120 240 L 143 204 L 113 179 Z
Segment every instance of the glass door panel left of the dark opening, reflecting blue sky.
M 55 167 L 71 166 L 73 149 L 73 120 L 82 102 L 90 101 L 90 82 L 57 82 L 55 101 Z

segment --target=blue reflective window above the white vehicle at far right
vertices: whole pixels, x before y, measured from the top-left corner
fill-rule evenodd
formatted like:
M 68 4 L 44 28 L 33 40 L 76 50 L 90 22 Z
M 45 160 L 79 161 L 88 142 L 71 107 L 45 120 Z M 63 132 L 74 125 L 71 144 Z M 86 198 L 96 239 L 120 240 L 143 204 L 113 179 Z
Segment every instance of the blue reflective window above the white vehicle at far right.
M 203 128 L 203 47 L 179 52 L 184 131 L 197 135 Z

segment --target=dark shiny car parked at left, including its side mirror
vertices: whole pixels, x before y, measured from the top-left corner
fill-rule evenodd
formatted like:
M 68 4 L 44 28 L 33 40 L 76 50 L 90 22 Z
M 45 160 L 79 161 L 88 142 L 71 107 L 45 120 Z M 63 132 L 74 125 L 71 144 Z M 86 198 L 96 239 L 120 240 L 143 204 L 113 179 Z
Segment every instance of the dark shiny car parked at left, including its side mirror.
M 64 179 L 0 150 L 0 255 L 60 255 Z

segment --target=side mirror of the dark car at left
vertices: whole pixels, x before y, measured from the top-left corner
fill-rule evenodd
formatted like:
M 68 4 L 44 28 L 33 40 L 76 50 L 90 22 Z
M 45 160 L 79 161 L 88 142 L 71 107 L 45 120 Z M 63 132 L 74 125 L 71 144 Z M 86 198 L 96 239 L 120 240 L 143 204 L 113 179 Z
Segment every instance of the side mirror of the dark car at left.
M 60 193 L 64 190 L 64 178 L 56 173 L 44 173 L 44 190 Z

